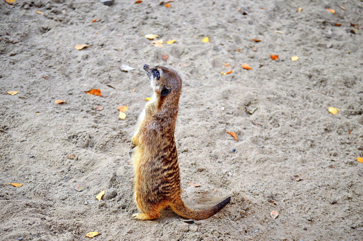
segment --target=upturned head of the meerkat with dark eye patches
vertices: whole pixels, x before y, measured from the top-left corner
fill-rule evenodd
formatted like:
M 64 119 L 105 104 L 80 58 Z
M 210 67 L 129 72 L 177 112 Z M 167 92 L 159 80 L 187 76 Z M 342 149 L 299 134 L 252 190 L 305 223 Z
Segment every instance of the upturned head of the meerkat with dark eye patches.
M 179 74 L 164 65 L 150 66 L 144 65 L 146 75 L 150 80 L 151 88 L 155 91 L 159 98 L 167 98 L 167 96 L 180 96 L 181 78 Z

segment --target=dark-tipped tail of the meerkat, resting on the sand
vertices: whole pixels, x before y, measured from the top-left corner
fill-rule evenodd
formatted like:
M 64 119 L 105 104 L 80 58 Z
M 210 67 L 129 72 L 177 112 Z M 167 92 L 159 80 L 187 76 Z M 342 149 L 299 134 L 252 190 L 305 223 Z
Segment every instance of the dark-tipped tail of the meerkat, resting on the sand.
M 184 217 L 185 219 L 202 220 L 215 215 L 227 203 L 229 203 L 229 200 L 231 200 L 231 197 L 224 199 L 219 204 L 204 211 L 195 211 L 188 208 L 180 197 L 174 202 L 171 202 L 169 206 L 176 214 L 180 215 L 181 217 Z

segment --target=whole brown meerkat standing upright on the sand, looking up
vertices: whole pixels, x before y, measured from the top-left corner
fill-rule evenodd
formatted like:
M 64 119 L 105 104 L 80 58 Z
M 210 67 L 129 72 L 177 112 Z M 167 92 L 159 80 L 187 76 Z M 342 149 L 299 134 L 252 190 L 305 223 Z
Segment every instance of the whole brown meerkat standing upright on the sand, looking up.
M 131 138 L 130 157 L 134 166 L 134 198 L 140 213 L 132 217 L 152 220 L 170 207 L 186 219 L 201 220 L 215 215 L 231 199 L 204 211 L 194 211 L 181 200 L 178 154 L 174 129 L 179 110 L 181 78 L 167 66 L 144 65 L 154 93 L 140 113 Z

